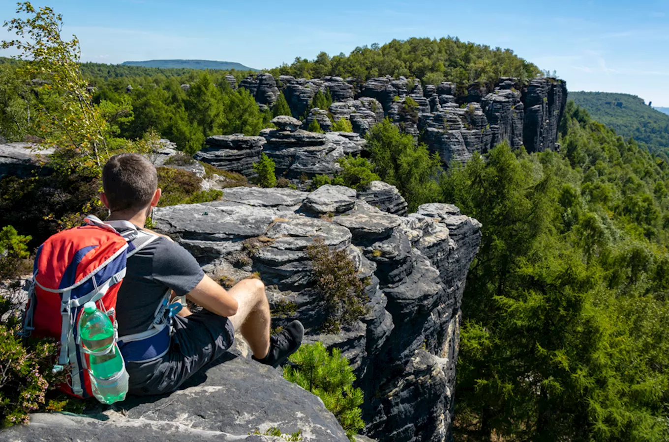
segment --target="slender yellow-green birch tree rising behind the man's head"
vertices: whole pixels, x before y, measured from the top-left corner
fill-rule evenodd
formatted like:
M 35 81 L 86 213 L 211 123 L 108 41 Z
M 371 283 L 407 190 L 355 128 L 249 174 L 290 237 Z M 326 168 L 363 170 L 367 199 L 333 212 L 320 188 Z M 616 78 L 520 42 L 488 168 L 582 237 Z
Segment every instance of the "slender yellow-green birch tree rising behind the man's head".
M 35 9 L 29 2 L 17 3 L 17 13 L 29 18 L 5 21 L 4 27 L 13 31 L 17 39 L 3 41 L 0 47 L 20 51 L 15 78 L 29 83 L 31 93 L 23 93 L 23 105 L 5 104 L 3 119 L 17 124 L 23 121 L 23 109 L 27 114 L 27 108 L 33 107 L 30 115 L 34 120 L 23 132 L 33 132 L 44 138 L 45 144 L 58 148 L 51 163 L 62 174 L 86 169 L 100 174 L 109 156 L 121 150 L 138 150 L 139 145 L 113 138 L 114 125 L 105 119 L 103 109 L 92 102 L 88 81 L 80 69 L 79 41 L 76 37 L 70 41 L 61 37 L 62 16 L 49 7 Z M 10 80 L 14 87 L 18 87 L 16 79 Z M 24 89 L 19 87 L 19 91 Z

